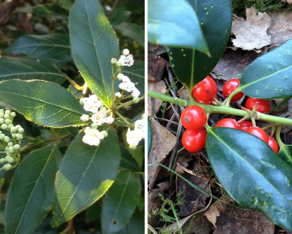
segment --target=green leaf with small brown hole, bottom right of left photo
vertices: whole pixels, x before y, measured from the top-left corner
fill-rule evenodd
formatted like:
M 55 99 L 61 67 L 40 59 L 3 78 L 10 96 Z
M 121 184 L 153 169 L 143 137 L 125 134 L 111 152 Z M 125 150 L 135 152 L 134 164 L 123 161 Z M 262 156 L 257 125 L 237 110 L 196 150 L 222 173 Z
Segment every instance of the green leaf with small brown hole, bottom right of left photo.
M 102 230 L 115 233 L 128 222 L 137 204 L 141 190 L 137 177 L 130 171 L 120 171 L 104 197 Z

